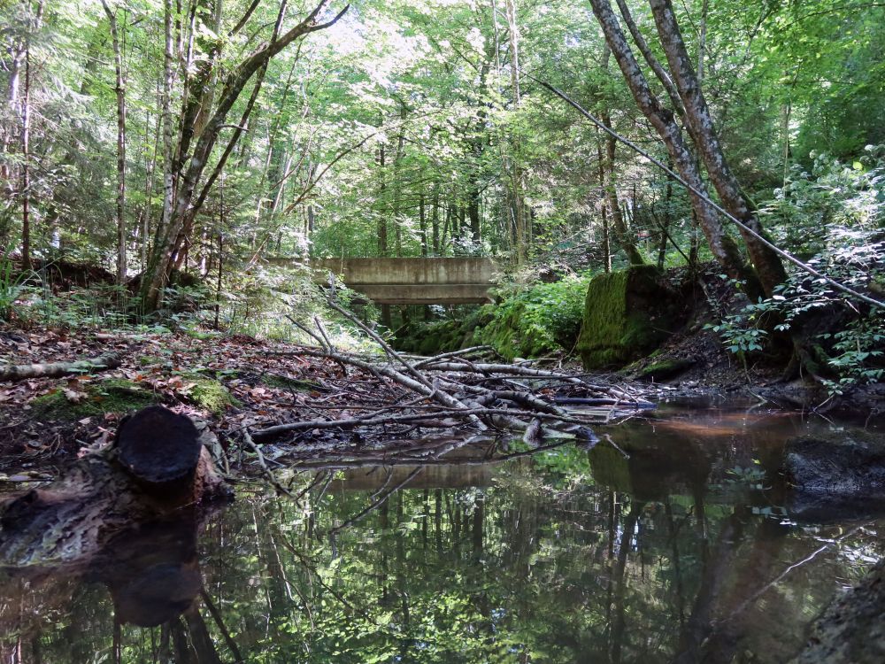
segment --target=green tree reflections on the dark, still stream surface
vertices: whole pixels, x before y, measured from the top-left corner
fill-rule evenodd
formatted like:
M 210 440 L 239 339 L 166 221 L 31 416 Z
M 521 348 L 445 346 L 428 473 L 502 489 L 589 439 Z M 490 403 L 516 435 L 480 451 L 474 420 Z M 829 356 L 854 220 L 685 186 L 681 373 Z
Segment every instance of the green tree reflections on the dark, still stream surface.
M 206 530 L 201 598 L 162 626 L 122 625 L 120 659 L 644 664 L 789 650 L 835 563 L 820 556 L 763 589 L 819 543 L 710 493 L 705 473 L 608 460 L 608 486 L 567 447 L 499 468 L 488 486 L 391 491 L 402 478 L 380 473 L 353 491 L 324 472 L 304 478 L 299 503 L 242 500 Z M 667 482 L 637 497 L 652 471 Z M 64 620 L 30 631 L 10 596 L 4 652 L 72 664 L 111 652 L 112 602 L 72 596 Z

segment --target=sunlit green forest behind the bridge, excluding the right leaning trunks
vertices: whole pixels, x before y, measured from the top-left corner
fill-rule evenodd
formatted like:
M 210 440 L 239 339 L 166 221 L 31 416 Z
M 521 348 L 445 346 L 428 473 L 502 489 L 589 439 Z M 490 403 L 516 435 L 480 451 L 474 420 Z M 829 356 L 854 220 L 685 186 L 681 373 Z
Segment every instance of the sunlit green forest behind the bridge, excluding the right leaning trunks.
M 673 163 L 591 4 L 5 2 L 0 313 L 15 317 L 21 274 L 61 263 L 115 274 L 118 305 L 202 298 L 216 327 L 262 331 L 276 296 L 306 299 L 306 277 L 273 257 L 494 255 L 520 283 L 720 258 L 684 189 L 538 84 Z M 674 12 L 712 133 L 773 242 L 881 294 L 885 7 L 618 5 L 665 100 L 650 6 Z M 789 300 L 788 320 L 835 297 L 791 278 L 768 301 Z M 726 342 L 752 350 L 766 332 L 742 316 Z M 881 322 L 864 325 L 873 344 Z

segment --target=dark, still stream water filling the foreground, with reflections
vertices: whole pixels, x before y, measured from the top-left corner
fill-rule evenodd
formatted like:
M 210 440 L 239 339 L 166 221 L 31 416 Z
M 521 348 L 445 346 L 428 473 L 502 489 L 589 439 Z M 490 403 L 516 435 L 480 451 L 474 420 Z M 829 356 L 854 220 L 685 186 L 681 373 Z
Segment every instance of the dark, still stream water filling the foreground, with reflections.
M 695 405 L 606 432 L 630 459 L 354 468 L 127 533 L 87 570 L 4 572 L 0 656 L 785 662 L 885 556 L 885 520 L 807 513 L 773 472 L 787 438 L 840 425 Z

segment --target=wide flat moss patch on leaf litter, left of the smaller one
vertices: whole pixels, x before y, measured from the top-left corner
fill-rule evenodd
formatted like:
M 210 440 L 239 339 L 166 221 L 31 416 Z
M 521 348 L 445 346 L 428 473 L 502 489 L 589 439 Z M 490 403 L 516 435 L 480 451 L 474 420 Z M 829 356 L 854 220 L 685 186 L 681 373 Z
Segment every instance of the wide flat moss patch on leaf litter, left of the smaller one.
M 76 402 L 68 398 L 64 390 L 56 390 L 35 398 L 31 405 L 38 417 L 81 420 L 104 413 L 128 413 L 159 402 L 154 392 L 142 388 L 137 382 L 119 378 L 86 384 L 84 387 L 83 396 Z

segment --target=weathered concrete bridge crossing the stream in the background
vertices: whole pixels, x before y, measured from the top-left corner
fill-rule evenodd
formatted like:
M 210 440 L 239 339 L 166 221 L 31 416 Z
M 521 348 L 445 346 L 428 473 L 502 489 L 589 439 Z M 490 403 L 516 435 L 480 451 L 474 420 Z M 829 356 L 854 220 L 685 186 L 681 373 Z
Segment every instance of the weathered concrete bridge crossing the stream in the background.
M 273 262 L 278 262 L 274 260 Z M 492 259 L 325 259 L 312 260 L 314 281 L 331 270 L 344 283 L 379 305 L 461 305 L 490 302 L 497 271 Z

